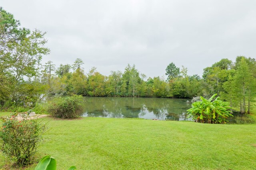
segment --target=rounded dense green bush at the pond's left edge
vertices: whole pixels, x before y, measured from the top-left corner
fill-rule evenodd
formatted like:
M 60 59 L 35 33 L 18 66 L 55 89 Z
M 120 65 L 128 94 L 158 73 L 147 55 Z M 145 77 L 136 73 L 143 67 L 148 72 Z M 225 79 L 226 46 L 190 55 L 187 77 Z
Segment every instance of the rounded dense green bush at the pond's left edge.
M 48 113 L 62 119 L 73 119 L 81 115 L 84 100 L 82 96 L 67 96 L 54 98 L 48 102 Z

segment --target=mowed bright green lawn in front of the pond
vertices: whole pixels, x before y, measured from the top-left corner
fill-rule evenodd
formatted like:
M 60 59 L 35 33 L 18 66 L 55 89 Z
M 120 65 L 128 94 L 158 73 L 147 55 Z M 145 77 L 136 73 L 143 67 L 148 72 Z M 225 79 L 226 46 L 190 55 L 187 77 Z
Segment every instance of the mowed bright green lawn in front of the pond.
M 256 169 L 256 124 L 92 117 L 44 122 L 49 130 L 36 156 L 53 156 L 58 170 Z M 5 164 L 0 154 L 0 167 Z

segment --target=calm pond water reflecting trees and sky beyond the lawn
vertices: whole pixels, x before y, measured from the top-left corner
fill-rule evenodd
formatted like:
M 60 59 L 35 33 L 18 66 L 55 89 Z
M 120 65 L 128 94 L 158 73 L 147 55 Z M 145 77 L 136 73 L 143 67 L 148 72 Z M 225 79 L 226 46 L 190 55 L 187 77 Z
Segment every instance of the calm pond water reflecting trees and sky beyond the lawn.
M 86 97 L 84 117 L 116 117 L 159 120 L 186 118 L 191 104 L 186 99 Z

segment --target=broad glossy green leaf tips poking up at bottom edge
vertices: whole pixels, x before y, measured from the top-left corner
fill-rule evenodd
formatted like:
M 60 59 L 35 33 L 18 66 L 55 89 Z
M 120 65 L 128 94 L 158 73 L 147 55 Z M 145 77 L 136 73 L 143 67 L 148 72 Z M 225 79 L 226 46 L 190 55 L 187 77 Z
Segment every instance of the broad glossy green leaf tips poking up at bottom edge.
M 38 162 L 35 170 L 56 170 L 56 160 L 52 156 L 44 156 Z M 70 166 L 68 170 L 76 170 L 76 166 Z

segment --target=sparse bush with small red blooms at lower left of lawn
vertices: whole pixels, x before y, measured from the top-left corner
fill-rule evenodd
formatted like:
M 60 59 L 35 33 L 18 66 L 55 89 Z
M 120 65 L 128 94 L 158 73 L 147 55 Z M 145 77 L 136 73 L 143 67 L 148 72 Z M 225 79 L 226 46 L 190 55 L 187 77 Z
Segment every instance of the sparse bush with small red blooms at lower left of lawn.
M 45 131 L 44 124 L 38 119 L 28 120 L 27 116 L 22 115 L 21 121 L 16 115 L 2 117 L 3 123 L 0 128 L 1 151 L 18 166 L 31 163 Z

